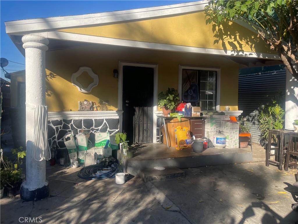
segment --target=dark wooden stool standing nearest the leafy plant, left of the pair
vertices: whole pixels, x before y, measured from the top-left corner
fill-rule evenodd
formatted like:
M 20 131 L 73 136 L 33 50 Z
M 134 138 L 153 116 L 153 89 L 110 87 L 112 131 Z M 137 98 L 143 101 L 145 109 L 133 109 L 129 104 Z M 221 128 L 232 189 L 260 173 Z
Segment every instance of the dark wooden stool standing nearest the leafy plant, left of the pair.
M 266 166 L 275 165 L 278 166 L 279 170 L 283 170 L 283 151 L 286 150 L 285 144 L 285 136 L 289 135 L 290 131 L 285 131 L 281 129 L 272 129 L 269 130 L 268 135 L 268 146 L 266 150 Z M 277 147 L 271 148 L 272 135 L 277 136 Z M 271 154 L 270 151 L 274 149 L 275 153 Z M 276 150 L 277 149 L 277 150 Z M 270 160 L 271 156 L 275 156 L 275 160 Z

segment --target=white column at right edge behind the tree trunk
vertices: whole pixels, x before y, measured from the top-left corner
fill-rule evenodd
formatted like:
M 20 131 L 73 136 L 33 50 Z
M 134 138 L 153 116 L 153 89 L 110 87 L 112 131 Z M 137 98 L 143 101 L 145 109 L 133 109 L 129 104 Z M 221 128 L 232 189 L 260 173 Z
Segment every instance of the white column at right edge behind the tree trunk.
M 294 65 L 297 70 L 297 65 Z M 285 83 L 285 129 L 294 130 L 293 122 L 298 119 L 298 82 L 288 69 Z

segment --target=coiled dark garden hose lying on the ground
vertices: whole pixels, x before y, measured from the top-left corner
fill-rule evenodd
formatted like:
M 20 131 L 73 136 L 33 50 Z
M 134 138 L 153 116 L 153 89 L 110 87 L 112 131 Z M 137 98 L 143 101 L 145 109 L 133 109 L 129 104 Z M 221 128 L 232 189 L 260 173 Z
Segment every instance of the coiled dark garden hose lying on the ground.
M 122 172 L 122 167 L 114 162 L 110 166 L 105 166 L 103 163 L 83 167 L 78 177 L 88 180 L 113 178 L 115 174 Z

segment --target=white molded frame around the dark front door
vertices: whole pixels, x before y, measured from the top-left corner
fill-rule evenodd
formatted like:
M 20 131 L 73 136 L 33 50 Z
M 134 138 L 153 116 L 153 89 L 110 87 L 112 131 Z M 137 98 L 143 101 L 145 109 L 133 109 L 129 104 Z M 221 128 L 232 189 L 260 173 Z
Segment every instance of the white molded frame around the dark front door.
M 153 143 L 156 143 L 156 114 L 154 111 L 158 110 L 158 64 L 141 63 L 141 62 L 126 62 L 119 61 L 119 76 L 118 76 L 118 110 L 123 111 L 122 108 L 122 96 L 123 96 L 123 66 L 135 66 L 135 67 L 149 67 L 154 70 L 154 87 L 153 87 Z M 119 130 L 122 132 L 122 118 L 123 114 L 119 115 Z

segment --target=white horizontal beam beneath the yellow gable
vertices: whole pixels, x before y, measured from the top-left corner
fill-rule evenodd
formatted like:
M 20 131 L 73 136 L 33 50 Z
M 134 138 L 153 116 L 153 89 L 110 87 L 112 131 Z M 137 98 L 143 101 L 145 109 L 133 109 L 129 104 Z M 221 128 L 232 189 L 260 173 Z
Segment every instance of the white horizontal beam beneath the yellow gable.
M 202 48 L 202 47 L 188 47 L 188 46 L 180 46 L 180 45 L 159 44 L 159 43 L 141 42 L 141 41 L 133 41 L 133 40 L 115 39 L 115 38 L 108 38 L 108 37 L 101 37 L 101 36 L 89 36 L 89 35 L 76 34 L 76 33 L 65 33 L 60 31 L 46 32 L 46 33 L 43 33 L 43 36 L 49 39 L 114 45 L 114 46 L 122 46 L 122 47 L 134 47 L 134 48 L 151 49 L 151 50 L 164 50 L 164 51 L 174 51 L 174 52 L 184 52 L 184 53 L 200 53 L 200 54 L 209 54 L 209 55 L 224 55 L 224 56 L 235 56 L 235 57 L 280 60 L 280 57 L 278 55 L 268 54 L 268 53 L 255 53 L 255 52 L 247 52 L 247 51 L 220 50 L 220 49 L 211 49 L 211 48 Z

